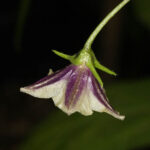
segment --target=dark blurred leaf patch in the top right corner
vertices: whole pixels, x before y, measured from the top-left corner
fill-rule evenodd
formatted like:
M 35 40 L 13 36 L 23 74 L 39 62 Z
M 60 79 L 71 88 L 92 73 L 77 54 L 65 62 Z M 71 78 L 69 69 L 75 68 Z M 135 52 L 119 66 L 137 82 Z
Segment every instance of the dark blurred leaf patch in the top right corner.
M 150 0 L 133 1 L 136 17 L 150 29 Z

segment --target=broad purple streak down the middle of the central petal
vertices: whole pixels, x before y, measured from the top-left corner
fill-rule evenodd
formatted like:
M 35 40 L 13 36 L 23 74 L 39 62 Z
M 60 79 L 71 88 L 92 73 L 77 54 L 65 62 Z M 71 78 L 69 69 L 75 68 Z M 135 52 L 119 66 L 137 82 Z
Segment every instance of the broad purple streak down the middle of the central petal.
M 69 109 L 76 105 L 87 83 L 87 68 L 79 68 L 69 78 L 65 93 L 65 105 Z

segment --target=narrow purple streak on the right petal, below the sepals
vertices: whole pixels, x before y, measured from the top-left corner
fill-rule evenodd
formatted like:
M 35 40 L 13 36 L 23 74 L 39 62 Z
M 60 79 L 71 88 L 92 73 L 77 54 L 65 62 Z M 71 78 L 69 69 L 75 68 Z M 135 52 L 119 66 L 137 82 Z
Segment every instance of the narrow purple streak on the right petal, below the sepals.
M 92 73 L 90 73 L 90 78 L 91 81 L 89 84 L 93 94 L 97 97 L 97 99 L 99 100 L 99 102 L 101 104 L 103 104 L 106 108 L 108 108 L 110 111 L 115 112 L 112 107 L 109 105 L 108 103 L 108 99 L 105 95 L 104 89 L 100 86 L 100 84 L 98 83 L 98 81 L 95 79 L 95 77 L 92 75 Z M 116 113 L 116 112 L 115 112 Z

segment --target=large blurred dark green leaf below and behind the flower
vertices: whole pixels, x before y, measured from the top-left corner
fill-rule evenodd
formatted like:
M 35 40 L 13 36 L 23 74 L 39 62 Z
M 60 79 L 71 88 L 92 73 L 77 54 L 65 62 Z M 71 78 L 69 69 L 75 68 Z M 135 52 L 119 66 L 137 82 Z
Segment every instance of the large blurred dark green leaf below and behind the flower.
M 20 150 L 132 150 L 150 146 L 150 80 L 109 85 L 124 121 L 105 113 L 67 116 L 60 110 L 35 128 Z

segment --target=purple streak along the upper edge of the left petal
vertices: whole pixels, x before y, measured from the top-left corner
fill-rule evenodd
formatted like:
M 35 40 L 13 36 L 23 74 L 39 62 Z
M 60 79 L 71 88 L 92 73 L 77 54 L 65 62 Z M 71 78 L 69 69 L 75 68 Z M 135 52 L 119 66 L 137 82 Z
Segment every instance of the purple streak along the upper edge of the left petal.
M 71 72 L 73 72 L 75 70 L 75 68 L 76 68 L 76 66 L 70 65 L 63 70 L 57 71 L 56 73 L 53 73 L 51 75 L 48 75 L 48 76 L 42 78 L 41 80 L 28 86 L 28 88 L 39 89 L 41 87 L 55 83 L 61 79 L 65 79 L 69 76 L 69 74 L 71 74 Z

